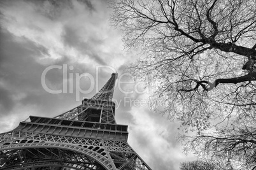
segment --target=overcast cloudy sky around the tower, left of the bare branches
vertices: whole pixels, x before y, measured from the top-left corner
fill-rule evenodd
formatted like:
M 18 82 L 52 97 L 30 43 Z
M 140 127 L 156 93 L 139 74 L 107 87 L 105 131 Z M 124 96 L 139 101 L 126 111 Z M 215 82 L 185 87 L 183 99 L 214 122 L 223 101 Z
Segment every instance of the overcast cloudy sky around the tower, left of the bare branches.
M 132 148 L 152 169 L 176 170 L 193 159 L 176 141 L 179 125 L 150 111 L 147 92 L 125 74 L 138 56 L 123 50 L 122 32 L 108 20 L 108 1 L 0 3 L 0 132 L 29 115 L 54 117 L 75 108 L 117 71 L 118 82 L 130 82 L 117 83 L 114 99 Z

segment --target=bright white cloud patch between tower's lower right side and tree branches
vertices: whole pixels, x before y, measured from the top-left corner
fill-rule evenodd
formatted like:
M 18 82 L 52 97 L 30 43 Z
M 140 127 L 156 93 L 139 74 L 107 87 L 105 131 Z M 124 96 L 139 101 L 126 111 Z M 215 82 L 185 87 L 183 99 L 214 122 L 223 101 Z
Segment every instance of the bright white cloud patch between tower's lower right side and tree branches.
M 146 108 L 132 107 L 129 144 L 152 169 L 179 169 L 180 162 L 193 157 L 182 153 L 177 143 L 177 127 Z

